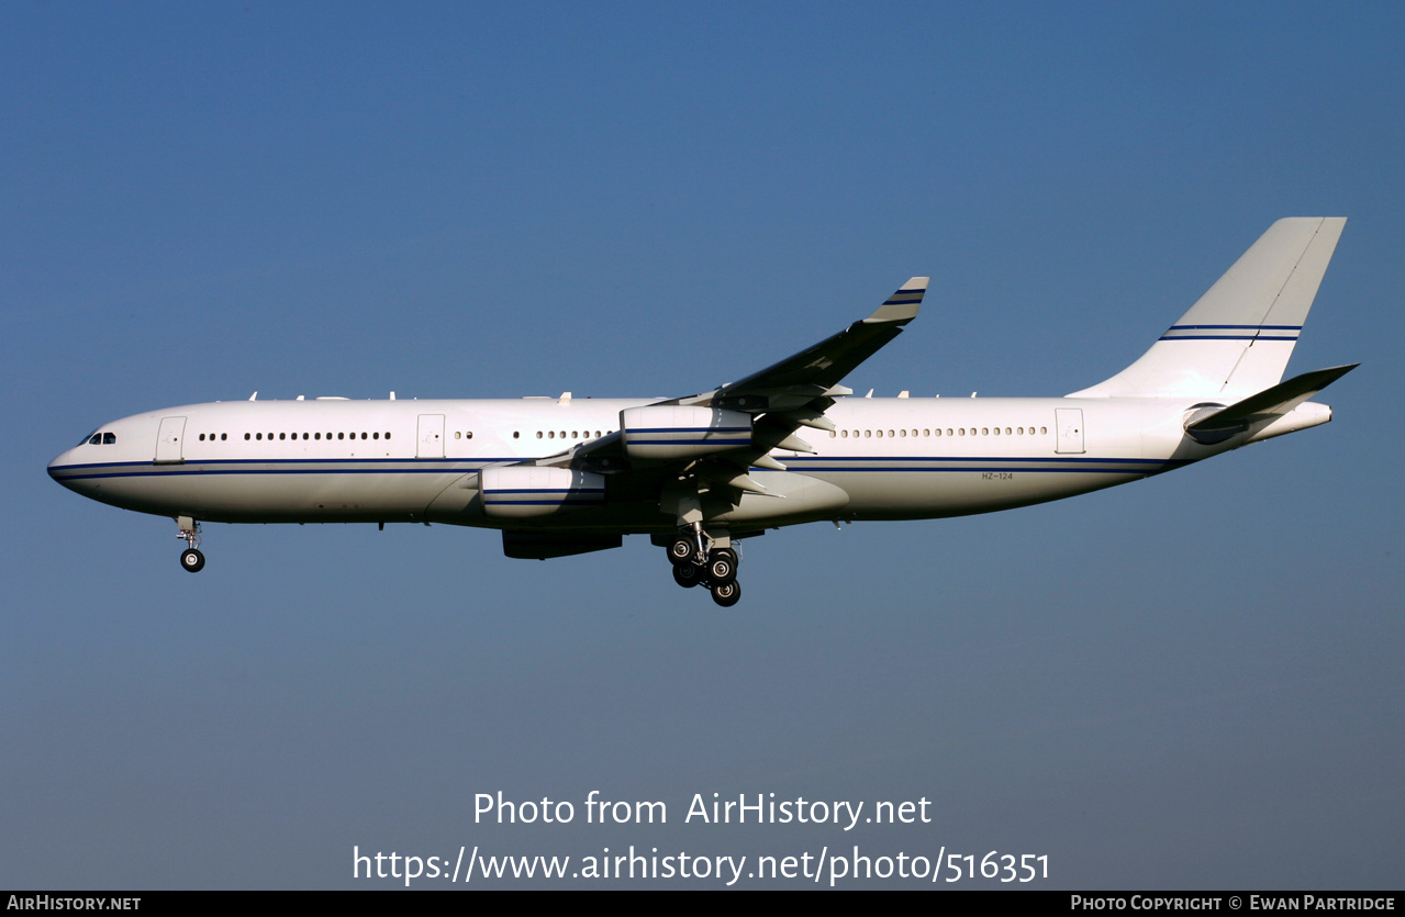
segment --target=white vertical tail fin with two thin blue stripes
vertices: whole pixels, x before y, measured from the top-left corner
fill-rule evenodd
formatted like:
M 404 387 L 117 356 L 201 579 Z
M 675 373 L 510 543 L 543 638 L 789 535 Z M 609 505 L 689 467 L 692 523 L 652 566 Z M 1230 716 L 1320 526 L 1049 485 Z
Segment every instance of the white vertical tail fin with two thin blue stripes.
M 1235 402 L 1277 385 L 1345 225 L 1290 216 L 1269 226 L 1141 359 L 1069 397 Z

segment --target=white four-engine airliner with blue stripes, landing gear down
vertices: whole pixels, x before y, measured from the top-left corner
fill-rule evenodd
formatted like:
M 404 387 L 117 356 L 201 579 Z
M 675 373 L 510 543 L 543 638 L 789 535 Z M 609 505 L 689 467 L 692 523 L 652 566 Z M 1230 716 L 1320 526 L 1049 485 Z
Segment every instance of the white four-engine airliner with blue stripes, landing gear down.
M 1345 218 L 1269 230 L 1130 367 L 1064 397 L 853 397 L 840 382 L 917 316 L 929 278 L 760 372 L 673 399 L 249 400 L 103 424 L 49 463 L 101 503 L 201 522 L 444 522 L 510 558 L 648 535 L 679 586 L 740 598 L 738 542 L 802 522 L 993 513 L 1316 427 L 1357 364 L 1283 381 Z M 804 437 L 801 430 L 804 428 Z

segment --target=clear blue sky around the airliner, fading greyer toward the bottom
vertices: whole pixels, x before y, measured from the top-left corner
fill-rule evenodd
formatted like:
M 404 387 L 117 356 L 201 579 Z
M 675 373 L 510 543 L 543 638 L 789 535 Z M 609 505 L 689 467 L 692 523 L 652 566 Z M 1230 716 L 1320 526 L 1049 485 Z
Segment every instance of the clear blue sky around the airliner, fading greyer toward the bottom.
M 0 883 L 857 843 L 1043 854 L 1057 888 L 1397 886 L 1402 25 L 0 7 Z M 1290 215 L 1349 218 L 1290 367 L 1363 364 L 1331 425 L 1073 501 L 771 532 L 728 612 L 638 539 L 530 565 L 450 527 L 212 525 L 192 577 L 169 520 L 44 473 L 105 420 L 256 389 L 690 393 L 913 274 L 923 315 L 851 388 L 1061 395 Z M 473 823 L 479 792 L 590 789 L 670 823 Z M 712 792 L 934 819 L 681 824 Z

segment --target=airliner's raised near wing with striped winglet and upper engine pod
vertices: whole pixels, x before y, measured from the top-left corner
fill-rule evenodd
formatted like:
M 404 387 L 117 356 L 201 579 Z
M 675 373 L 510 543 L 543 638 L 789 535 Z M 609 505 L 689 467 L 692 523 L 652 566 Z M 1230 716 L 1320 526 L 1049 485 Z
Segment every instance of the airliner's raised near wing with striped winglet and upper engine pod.
M 607 473 L 686 465 L 715 483 L 763 493 L 746 470 L 785 470 L 771 449 L 815 451 L 795 431 L 835 428 L 825 410 L 853 393 L 840 381 L 917 317 L 929 279 L 913 277 L 873 315 L 794 357 L 710 392 L 629 409 L 620 431 L 538 463 Z

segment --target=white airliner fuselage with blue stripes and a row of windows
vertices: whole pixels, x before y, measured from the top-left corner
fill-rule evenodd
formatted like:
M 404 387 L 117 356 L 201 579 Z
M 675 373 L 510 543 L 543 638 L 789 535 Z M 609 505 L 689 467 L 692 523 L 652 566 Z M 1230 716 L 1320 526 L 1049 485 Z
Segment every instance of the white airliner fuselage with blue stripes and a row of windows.
M 84 441 L 53 459 L 49 473 L 103 503 L 214 522 L 507 528 L 475 510 L 466 482 L 478 470 L 596 440 L 618 428 L 621 410 L 651 402 L 188 404 L 104 424 L 97 438 L 111 442 Z M 840 399 L 825 414 L 837 430 L 802 430 L 813 454 L 774 451 L 788 470 L 753 469 L 752 479 L 769 493 L 743 494 L 722 521 L 769 528 L 986 513 L 1145 477 L 1246 441 L 1204 447 L 1187 440 L 1189 407 L 1176 399 Z M 844 497 L 825 489 L 830 496 L 822 501 L 797 499 L 794 482 L 812 480 Z M 676 520 L 659 511 L 656 492 L 621 489 L 607 490 L 604 506 L 549 525 L 658 532 L 672 531 Z

